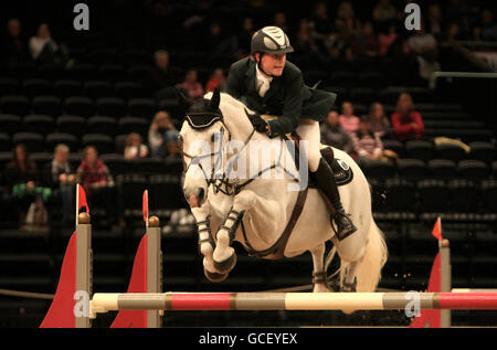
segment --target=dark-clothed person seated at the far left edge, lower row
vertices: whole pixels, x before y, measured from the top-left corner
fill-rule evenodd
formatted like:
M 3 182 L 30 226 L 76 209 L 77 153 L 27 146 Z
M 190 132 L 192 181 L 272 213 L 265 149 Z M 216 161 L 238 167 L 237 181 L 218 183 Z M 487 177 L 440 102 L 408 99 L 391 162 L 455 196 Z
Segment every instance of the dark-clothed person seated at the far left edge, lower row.
M 24 144 L 14 147 L 12 161 L 6 167 L 6 180 L 14 200 L 19 223 L 22 224 L 35 199 L 39 183 L 36 165 L 30 159 L 30 152 Z

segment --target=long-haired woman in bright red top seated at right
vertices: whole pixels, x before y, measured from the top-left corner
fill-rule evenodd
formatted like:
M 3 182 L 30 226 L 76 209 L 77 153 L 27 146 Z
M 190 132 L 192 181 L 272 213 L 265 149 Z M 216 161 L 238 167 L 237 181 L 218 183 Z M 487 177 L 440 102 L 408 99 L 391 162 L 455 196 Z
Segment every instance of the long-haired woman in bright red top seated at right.
M 399 96 L 396 112 L 392 114 L 392 126 L 400 141 L 419 139 L 423 136 L 423 119 L 421 114 L 414 110 L 410 94 L 401 94 Z

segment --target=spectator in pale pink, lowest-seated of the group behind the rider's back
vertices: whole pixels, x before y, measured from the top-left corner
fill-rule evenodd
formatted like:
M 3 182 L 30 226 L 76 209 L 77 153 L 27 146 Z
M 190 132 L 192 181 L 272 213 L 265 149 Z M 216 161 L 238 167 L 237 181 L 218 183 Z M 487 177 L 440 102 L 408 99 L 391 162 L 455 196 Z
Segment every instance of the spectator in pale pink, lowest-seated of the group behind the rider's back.
M 383 152 L 380 135 L 371 130 L 368 119 L 368 116 L 362 117 L 359 123 L 359 130 L 351 135 L 353 148 L 359 156 L 359 162 L 378 160 Z

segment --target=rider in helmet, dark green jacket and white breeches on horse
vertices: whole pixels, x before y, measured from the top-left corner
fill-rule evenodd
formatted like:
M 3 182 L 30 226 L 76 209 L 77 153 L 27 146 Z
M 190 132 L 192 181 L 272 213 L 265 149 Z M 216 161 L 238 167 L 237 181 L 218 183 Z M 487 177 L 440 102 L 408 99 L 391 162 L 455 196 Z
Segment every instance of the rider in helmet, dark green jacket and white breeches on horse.
M 330 224 L 334 227 L 335 220 L 336 234 L 343 240 L 357 227 L 343 210 L 334 171 L 320 153 L 319 121 L 331 109 L 336 94 L 306 86 L 300 70 L 286 61 L 286 54 L 293 51 L 282 29 L 258 30 L 252 36 L 251 55 L 231 65 L 226 93 L 256 113 L 250 119 L 258 132 L 273 138 L 295 130 L 307 141 L 309 169 L 335 206 Z M 266 123 L 262 114 L 279 117 Z

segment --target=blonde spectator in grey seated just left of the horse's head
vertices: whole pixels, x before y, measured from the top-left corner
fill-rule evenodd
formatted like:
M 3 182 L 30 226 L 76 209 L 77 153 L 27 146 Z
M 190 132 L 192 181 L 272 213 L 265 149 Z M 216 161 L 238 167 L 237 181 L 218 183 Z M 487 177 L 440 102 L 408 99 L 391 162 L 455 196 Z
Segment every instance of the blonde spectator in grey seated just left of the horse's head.
M 175 138 L 176 137 L 176 138 Z M 158 112 L 148 130 L 148 144 L 152 157 L 165 158 L 168 156 L 168 141 L 178 139 L 178 130 L 171 123 L 169 113 Z

